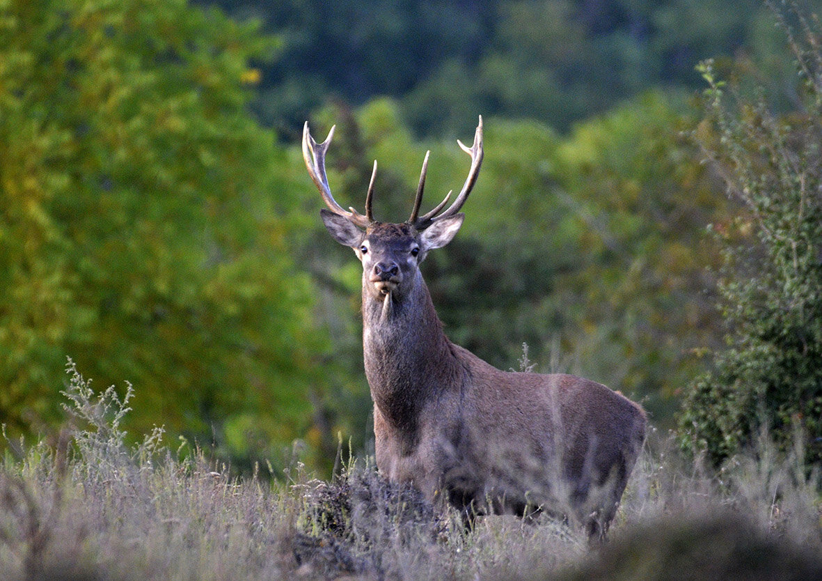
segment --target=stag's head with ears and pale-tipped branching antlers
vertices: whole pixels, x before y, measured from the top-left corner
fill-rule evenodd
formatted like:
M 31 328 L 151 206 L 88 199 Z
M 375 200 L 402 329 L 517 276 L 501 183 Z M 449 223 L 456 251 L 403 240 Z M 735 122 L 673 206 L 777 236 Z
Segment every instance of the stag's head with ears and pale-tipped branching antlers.
M 431 211 L 423 216 L 419 215 L 428 156 L 431 153 L 428 151 L 423 160 L 411 216 L 402 224 L 374 220 L 372 201 L 376 161 L 368 186 L 364 216 L 353 207 L 344 210 L 335 201 L 326 176 L 326 151 L 333 135 L 332 127 L 325 142 L 315 142 L 308 130 L 308 122 L 302 132 L 302 156 L 308 173 L 328 206 L 327 210 L 320 211 L 322 221 L 339 244 L 349 246 L 357 254 L 357 258 L 363 263 L 363 290 L 372 299 L 382 301 L 387 310 L 390 309 L 390 304 L 399 303 L 408 295 L 417 279 L 418 265 L 423 262 L 428 251 L 448 244 L 462 225 L 465 216 L 459 213 L 459 209 L 468 199 L 483 162 L 483 118 L 479 118 L 471 147 L 464 146 L 457 140 L 463 151 L 471 156 L 471 168 L 459 196 L 443 211 L 450 199 L 449 192 Z

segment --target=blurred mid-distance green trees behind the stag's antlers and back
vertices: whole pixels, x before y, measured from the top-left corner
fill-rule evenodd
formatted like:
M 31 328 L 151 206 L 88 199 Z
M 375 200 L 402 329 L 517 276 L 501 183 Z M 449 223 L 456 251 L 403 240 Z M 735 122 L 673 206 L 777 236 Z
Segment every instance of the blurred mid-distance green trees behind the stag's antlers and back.
M 697 148 L 679 133 L 681 109 L 650 93 L 568 137 L 539 123 L 486 119 L 483 170 L 463 229 L 423 264 L 449 337 L 501 369 L 515 365 L 527 342 L 537 370 L 573 371 L 647 396 L 656 420 L 669 419 L 677 388 L 701 369 L 695 350 L 721 338 L 704 293 L 718 248 L 703 240 L 704 225 L 727 211 Z M 341 204 L 362 209 L 378 160 L 379 220 L 408 216 L 425 149 L 424 207 L 458 189 L 468 171 L 454 140 L 414 142 L 390 100 L 317 118 L 317 135 L 338 124 L 328 168 Z M 356 359 L 350 369 L 361 375 L 359 265 L 318 219 L 315 231 L 312 244 L 326 252 L 306 258 L 312 272 L 353 265 L 349 282 L 328 290 L 337 297 L 332 316 L 349 317 L 335 342 L 348 345 L 340 353 Z

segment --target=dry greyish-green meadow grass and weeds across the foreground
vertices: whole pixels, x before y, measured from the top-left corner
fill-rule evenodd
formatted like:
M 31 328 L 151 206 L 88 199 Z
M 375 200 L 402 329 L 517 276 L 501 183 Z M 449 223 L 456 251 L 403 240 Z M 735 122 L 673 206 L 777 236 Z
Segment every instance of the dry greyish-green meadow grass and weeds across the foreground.
M 2 579 L 822 579 L 820 475 L 767 434 L 714 470 L 651 433 L 610 541 L 488 517 L 466 530 L 367 459 L 321 481 L 229 467 L 162 430 L 130 445 L 131 388 L 69 366 L 71 427 L 0 467 Z

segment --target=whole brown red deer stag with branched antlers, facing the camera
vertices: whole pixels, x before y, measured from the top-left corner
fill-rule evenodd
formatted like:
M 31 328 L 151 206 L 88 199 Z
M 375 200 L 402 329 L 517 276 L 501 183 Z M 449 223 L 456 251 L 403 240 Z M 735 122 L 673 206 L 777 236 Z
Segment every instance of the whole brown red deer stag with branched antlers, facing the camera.
M 642 408 L 574 375 L 496 370 L 450 342 L 419 270 L 463 223 L 458 212 L 483 161 L 483 118 L 473 146 L 458 141 L 471 169 L 454 202 L 443 211 L 449 193 L 420 215 L 426 154 L 403 224 L 374 220 L 376 161 L 364 216 L 335 201 L 325 167 L 333 133 L 317 144 L 306 123 L 302 155 L 329 208 L 322 221 L 363 263 L 363 351 L 380 472 L 432 502 L 450 501 L 469 519 L 544 509 L 603 537 L 642 448 Z

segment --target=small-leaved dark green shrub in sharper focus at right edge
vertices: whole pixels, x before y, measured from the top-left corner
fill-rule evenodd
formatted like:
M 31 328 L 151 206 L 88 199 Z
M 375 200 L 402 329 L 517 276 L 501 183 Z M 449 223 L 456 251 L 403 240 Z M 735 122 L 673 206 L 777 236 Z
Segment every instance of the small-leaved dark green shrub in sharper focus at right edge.
M 709 118 L 696 137 L 746 208 L 716 226 L 726 240 L 719 290 L 727 349 L 692 385 L 681 416 L 686 448 L 715 461 L 762 429 L 783 445 L 804 431 L 809 459 L 822 460 L 820 29 L 795 9 L 778 14 L 797 58 L 797 112 L 774 115 L 765 95 L 750 99 L 737 83 L 726 86 L 711 62 L 700 69 Z M 755 237 L 734 244 L 735 232 Z

